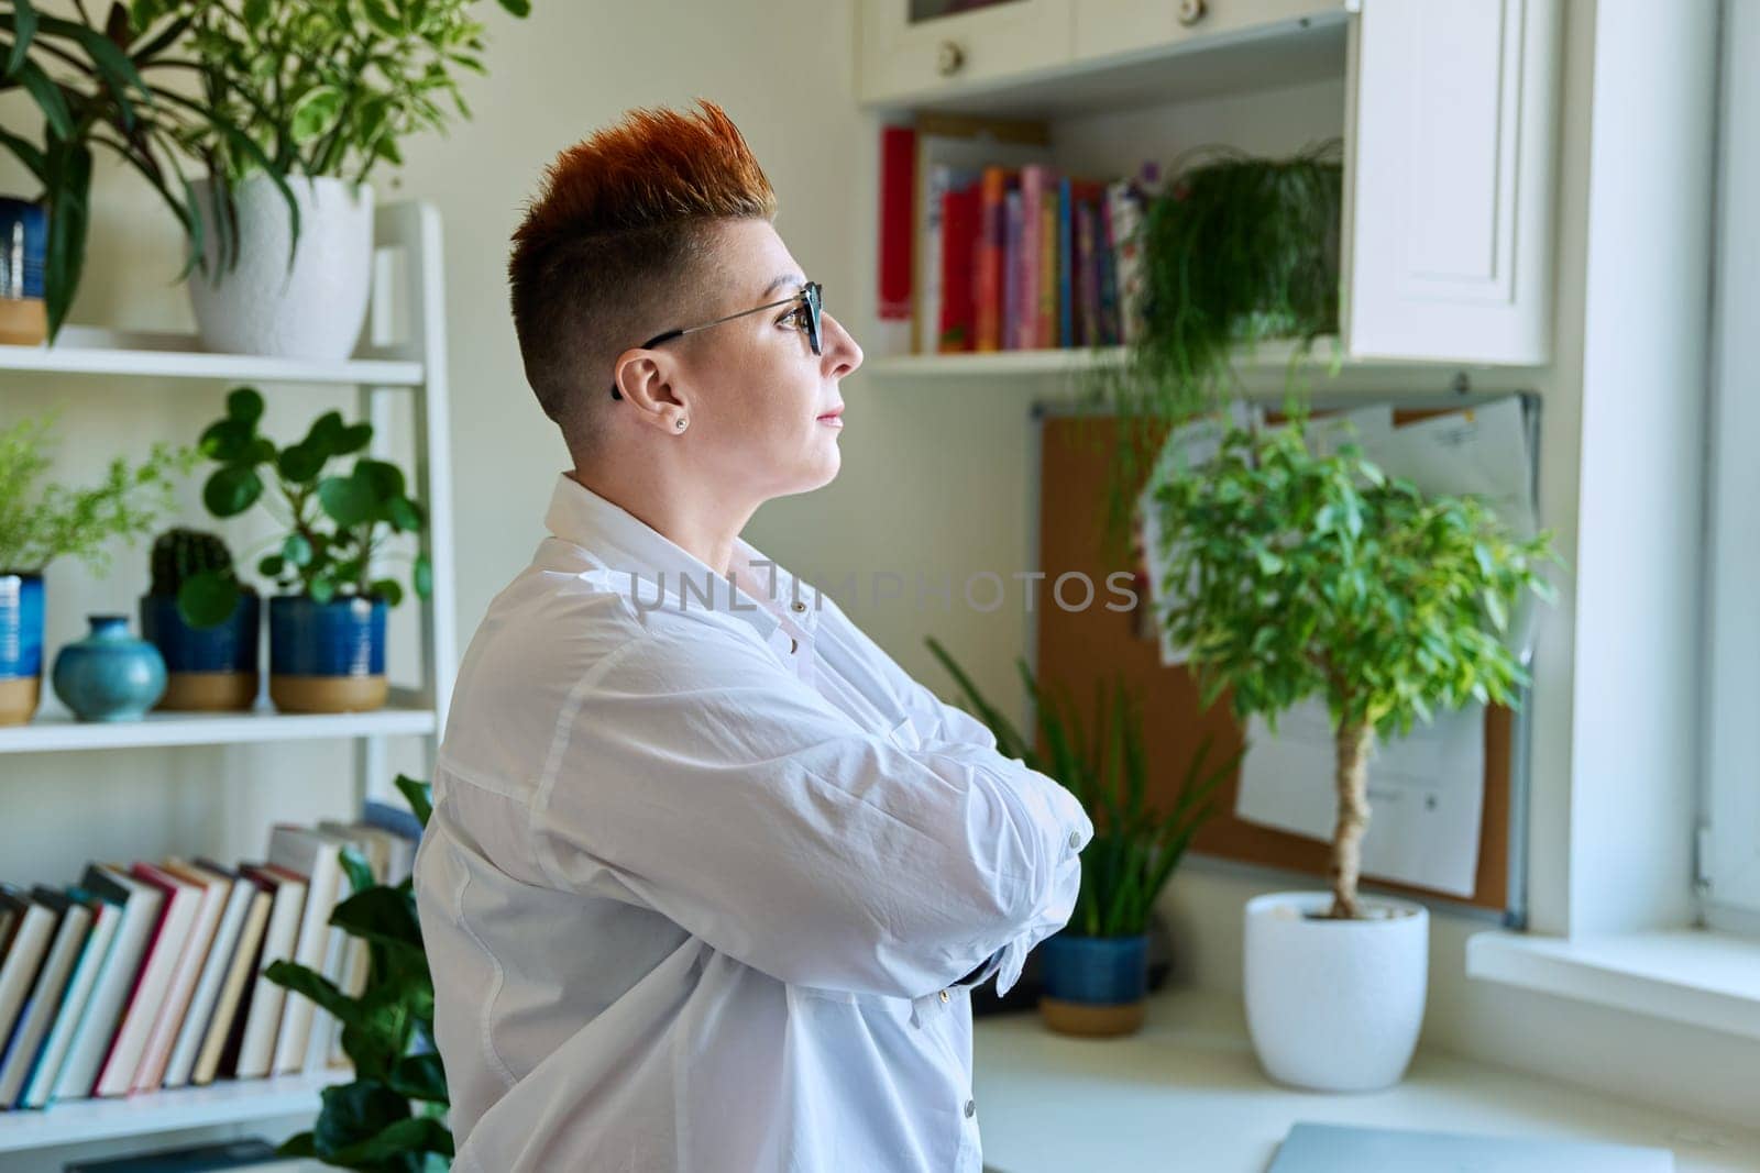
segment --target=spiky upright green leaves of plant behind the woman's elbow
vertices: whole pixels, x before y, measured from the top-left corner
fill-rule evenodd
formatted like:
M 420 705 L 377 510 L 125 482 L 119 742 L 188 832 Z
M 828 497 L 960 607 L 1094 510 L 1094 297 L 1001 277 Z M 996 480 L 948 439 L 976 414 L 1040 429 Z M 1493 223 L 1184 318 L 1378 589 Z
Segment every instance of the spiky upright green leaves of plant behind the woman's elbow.
M 1068 930 L 1088 937 L 1148 932 L 1156 897 L 1211 816 L 1216 788 L 1234 774 L 1239 753 L 1206 769 L 1211 754 L 1206 739 L 1186 763 L 1172 804 L 1158 809 L 1148 800 L 1142 709 L 1123 681 L 1095 689 L 1093 721 L 1088 723 L 1067 691 L 1040 688 L 1026 659 L 1016 661 L 1033 702 L 1037 740 L 1031 740 L 984 698 L 938 640 L 928 644 L 954 677 L 966 707 L 996 737 L 996 749 L 1058 781 L 1095 825 L 1082 849 L 1082 881 Z

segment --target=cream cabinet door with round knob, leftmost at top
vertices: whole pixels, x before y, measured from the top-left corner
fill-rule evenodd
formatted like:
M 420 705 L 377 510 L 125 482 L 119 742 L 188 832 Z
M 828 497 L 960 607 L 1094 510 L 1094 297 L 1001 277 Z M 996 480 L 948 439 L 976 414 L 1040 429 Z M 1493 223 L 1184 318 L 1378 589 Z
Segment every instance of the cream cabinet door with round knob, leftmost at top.
M 929 98 L 1070 60 L 1072 0 L 861 0 L 864 102 Z

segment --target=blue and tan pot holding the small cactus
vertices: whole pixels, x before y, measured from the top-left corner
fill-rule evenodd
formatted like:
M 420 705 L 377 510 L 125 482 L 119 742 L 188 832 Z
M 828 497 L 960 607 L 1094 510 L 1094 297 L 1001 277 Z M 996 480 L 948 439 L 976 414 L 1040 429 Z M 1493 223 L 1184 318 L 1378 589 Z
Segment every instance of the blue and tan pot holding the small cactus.
M 141 635 L 165 658 L 160 709 L 236 712 L 257 700 L 257 635 L 262 605 L 253 591 L 239 596 L 232 617 L 192 628 L 172 594 L 141 596 Z

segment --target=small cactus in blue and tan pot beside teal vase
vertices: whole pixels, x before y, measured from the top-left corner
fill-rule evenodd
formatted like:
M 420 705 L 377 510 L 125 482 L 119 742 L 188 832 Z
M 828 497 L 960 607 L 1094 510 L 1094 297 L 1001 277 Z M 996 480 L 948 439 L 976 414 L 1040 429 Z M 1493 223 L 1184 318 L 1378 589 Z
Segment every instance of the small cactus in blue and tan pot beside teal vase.
M 141 635 L 165 659 L 160 709 L 241 712 L 257 702 L 257 593 L 238 580 L 218 535 L 169 529 L 153 542 Z

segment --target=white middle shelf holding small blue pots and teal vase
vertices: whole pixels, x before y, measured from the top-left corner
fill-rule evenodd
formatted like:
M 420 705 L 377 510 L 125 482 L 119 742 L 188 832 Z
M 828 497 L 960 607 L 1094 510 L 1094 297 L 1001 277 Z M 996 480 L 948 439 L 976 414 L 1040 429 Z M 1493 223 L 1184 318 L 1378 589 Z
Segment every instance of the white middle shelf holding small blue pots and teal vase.
M 0 753 L 58 749 L 134 749 L 143 746 L 231 746 L 322 737 L 426 735 L 435 732 L 431 709 L 378 712 L 290 714 L 153 712 L 143 721 L 86 723 L 48 705 L 30 725 L 0 728 Z

